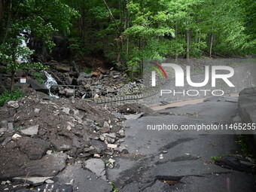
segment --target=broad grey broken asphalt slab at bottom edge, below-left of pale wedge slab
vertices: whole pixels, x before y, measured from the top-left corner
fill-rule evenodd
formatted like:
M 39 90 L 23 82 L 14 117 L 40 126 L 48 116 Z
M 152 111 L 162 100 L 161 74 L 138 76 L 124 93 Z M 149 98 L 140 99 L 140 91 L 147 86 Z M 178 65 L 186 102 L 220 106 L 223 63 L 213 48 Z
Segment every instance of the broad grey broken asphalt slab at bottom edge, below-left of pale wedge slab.
M 111 192 L 112 187 L 107 181 L 87 169 L 83 169 L 81 164 L 67 166 L 59 175 L 56 176 L 60 183 L 72 183 L 74 191 L 84 192 Z M 61 191 L 61 190 L 59 190 Z

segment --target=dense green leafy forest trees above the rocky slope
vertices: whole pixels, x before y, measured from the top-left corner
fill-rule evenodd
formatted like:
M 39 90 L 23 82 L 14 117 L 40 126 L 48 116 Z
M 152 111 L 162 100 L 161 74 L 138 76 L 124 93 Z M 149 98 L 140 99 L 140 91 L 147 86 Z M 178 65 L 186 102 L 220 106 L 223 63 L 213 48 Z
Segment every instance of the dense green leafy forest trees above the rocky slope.
M 255 9 L 253 0 L 1 1 L 0 62 L 12 75 L 43 69 L 29 59 L 20 65 L 33 53 L 22 46 L 22 31 L 41 44 L 41 53 L 50 53 L 53 35 L 62 35 L 69 59 L 102 56 L 130 74 L 141 71 L 143 58 L 253 54 Z

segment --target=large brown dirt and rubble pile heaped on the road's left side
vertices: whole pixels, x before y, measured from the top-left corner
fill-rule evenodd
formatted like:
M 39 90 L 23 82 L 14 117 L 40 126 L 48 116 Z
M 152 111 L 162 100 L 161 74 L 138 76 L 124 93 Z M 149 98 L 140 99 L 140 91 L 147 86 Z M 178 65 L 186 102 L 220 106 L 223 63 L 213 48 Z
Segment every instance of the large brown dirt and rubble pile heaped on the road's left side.
M 47 175 L 35 169 L 40 164 L 47 168 L 52 162 L 44 158 L 49 161 L 50 154 L 59 154 L 58 161 L 73 163 L 78 158 L 123 151 L 118 147 L 124 137 L 121 119 L 94 102 L 26 97 L 8 102 L 0 114 L 0 180 L 28 172 L 30 176 Z

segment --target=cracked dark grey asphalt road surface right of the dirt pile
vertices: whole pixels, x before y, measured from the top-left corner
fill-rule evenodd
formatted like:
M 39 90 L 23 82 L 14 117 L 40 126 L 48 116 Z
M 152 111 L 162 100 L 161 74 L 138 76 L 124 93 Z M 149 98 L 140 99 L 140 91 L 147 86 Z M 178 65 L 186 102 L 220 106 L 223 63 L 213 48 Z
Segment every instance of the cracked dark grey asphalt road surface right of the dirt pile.
M 161 116 L 126 120 L 121 146 L 129 154 L 114 157 L 108 179 L 120 192 L 256 191 L 254 176 L 215 165 L 214 158 L 237 155 L 234 134 L 147 130 L 148 124 L 232 123 L 237 120 L 235 97 L 212 97 L 197 105 L 166 108 Z

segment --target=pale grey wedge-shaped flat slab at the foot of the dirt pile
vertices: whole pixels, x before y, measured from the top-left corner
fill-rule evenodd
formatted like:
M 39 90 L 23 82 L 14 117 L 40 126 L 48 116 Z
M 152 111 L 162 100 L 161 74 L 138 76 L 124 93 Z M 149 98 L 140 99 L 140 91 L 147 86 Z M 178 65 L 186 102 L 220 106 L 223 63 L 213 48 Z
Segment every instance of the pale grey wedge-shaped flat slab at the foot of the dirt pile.
M 84 167 L 94 172 L 98 177 L 106 180 L 105 176 L 105 163 L 100 159 L 90 159 L 84 162 Z

